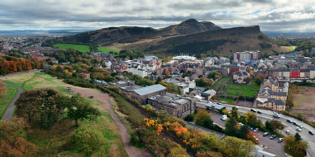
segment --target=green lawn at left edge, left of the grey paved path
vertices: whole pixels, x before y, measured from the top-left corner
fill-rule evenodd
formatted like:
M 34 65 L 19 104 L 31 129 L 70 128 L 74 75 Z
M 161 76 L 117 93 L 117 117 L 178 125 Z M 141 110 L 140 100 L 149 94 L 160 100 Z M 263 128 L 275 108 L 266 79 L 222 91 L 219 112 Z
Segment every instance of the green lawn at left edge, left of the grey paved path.
M 12 101 L 12 99 L 14 98 L 14 96 L 18 93 L 18 89 L 7 85 L 8 91 L 6 94 L 4 95 L 0 95 L 0 119 L 2 118 L 2 116 L 5 114 L 10 102 Z

